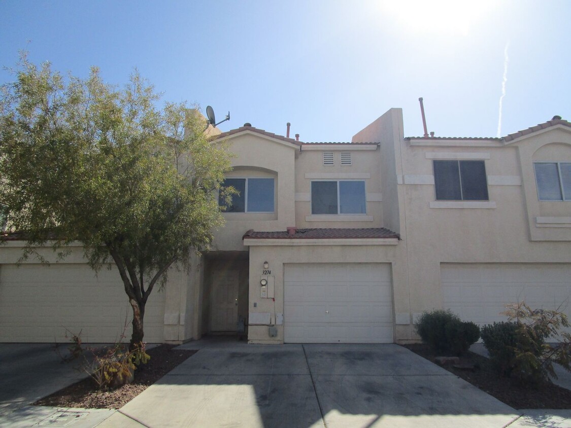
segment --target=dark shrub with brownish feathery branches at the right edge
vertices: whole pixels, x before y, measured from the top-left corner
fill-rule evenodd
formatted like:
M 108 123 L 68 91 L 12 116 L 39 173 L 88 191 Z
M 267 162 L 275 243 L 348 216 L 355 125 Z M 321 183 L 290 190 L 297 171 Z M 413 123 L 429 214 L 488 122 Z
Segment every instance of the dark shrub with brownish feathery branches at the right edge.
M 482 329 L 490 360 L 498 371 L 522 385 L 538 386 L 557 378 L 556 362 L 571 371 L 571 335 L 560 309 L 532 309 L 525 302 L 506 305 L 509 322 L 495 322 Z M 551 342 L 551 343 L 548 343 Z

